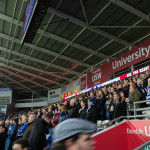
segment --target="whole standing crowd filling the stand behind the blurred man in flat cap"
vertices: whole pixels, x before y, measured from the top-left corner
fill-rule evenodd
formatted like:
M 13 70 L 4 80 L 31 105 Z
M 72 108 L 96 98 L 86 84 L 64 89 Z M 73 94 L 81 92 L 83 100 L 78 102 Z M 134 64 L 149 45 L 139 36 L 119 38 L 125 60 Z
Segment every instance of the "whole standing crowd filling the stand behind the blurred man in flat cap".
M 53 130 L 64 120 L 81 118 L 94 123 L 112 120 L 126 116 L 127 109 L 133 109 L 133 103 L 140 100 L 150 100 L 149 71 L 23 114 L 3 115 L 0 150 L 19 150 L 15 147 L 17 143 L 21 143 L 24 150 L 26 147 L 42 150 L 52 145 Z M 147 102 L 137 107 L 149 106 Z

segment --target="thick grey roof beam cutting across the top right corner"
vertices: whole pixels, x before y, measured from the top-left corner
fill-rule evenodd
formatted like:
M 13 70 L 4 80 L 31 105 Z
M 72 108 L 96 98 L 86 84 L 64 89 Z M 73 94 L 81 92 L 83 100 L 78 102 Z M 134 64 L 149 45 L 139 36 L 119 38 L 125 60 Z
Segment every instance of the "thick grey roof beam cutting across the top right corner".
M 147 15 L 147 14 L 137 10 L 136 8 L 128 5 L 127 3 L 125 3 L 125 2 L 123 2 L 121 0 L 109 0 L 109 1 L 114 3 L 115 5 L 123 8 L 123 9 L 129 11 L 130 13 L 132 13 L 132 14 L 134 14 L 134 15 L 136 15 L 136 16 L 138 16 L 138 17 L 140 17 L 140 18 L 142 18 L 142 19 L 144 19 L 144 20 L 146 20 L 148 22 L 150 22 L 149 15 Z

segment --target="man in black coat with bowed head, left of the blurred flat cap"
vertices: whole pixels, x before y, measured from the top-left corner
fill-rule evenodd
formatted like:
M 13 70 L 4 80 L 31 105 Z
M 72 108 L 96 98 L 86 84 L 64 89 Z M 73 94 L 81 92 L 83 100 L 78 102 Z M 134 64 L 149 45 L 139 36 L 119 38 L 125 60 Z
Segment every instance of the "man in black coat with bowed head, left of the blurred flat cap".
M 29 150 L 42 150 L 45 147 L 47 126 L 51 124 L 52 119 L 51 114 L 46 114 L 44 118 L 34 122 L 29 137 Z

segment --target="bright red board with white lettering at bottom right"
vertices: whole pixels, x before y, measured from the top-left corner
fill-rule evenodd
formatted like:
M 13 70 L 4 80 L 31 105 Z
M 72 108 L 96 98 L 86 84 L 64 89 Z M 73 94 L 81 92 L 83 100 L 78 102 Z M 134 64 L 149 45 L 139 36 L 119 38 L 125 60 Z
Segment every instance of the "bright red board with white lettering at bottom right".
M 133 150 L 150 140 L 150 121 L 126 121 L 93 137 L 95 150 Z

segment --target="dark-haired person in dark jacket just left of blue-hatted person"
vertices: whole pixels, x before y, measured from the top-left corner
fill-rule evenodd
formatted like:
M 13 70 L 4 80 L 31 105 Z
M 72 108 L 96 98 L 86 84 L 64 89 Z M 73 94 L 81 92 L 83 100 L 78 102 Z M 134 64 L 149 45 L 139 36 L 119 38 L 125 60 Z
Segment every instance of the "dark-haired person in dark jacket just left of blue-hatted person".
M 79 118 L 85 119 L 86 110 L 87 110 L 87 100 L 81 99 L 80 105 L 81 105 L 81 109 L 79 110 Z

